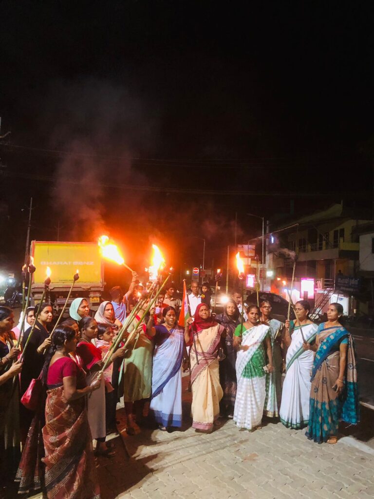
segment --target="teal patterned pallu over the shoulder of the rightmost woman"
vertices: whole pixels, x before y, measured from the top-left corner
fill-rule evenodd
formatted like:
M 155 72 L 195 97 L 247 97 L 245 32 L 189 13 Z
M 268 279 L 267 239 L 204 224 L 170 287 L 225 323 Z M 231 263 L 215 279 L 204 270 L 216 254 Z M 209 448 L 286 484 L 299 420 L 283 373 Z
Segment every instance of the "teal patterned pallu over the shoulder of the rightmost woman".
M 323 362 L 332 353 L 332 350 L 337 345 L 337 343 L 343 338 L 347 337 L 348 349 L 345 372 L 345 389 L 340 397 L 343 402 L 341 419 L 346 423 L 357 424 L 360 421 L 360 401 L 357 384 L 357 354 L 353 336 L 349 333 L 349 331 L 347 331 L 347 329 L 342 326 L 338 328 L 331 327 L 321 330 L 319 329 L 318 332 L 326 332 L 327 336 L 324 338 L 316 352 L 311 381 L 314 380 L 318 369 L 320 369 Z

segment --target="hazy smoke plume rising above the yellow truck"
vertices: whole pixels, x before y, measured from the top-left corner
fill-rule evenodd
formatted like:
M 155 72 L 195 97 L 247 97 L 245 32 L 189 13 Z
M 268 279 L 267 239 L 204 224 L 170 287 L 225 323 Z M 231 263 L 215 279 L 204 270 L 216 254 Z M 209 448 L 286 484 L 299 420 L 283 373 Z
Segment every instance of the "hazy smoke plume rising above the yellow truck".
M 109 231 L 107 211 L 126 210 L 128 192 L 116 186 L 147 184 L 131 157 L 151 142 L 152 125 L 139 99 L 105 81 L 55 82 L 47 101 L 50 148 L 66 152 L 57 165 L 53 204 L 73 228 L 69 237 L 95 238 Z

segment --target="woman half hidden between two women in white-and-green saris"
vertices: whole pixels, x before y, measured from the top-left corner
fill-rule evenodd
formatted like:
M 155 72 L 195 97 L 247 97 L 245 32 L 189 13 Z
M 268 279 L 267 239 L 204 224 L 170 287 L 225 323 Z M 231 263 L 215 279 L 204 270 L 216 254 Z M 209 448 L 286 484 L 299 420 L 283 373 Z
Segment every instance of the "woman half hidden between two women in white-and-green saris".
M 264 414 L 269 418 L 279 416 L 282 399 L 282 350 L 281 337 L 284 323 L 271 317 L 271 303 L 268 300 L 260 303 L 260 321 L 270 327 L 271 347 L 273 349 L 274 371 L 266 375 L 266 399 Z

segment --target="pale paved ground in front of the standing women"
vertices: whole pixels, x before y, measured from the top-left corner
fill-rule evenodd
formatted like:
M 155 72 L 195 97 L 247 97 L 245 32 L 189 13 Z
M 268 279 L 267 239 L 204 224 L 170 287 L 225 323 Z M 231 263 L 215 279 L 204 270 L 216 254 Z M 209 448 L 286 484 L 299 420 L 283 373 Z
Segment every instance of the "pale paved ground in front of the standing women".
M 129 437 L 119 409 L 117 455 L 98 461 L 102 499 L 374 497 L 371 448 L 348 445 L 357 442 L 352 437 L 335 446 L 318 445 L 304 431 L 272 420 L 253 433 L 238 431 L 232 421 L 210 435 L 195 433 L 183 381 L 187 417 L 182 431 L 146 429 Z

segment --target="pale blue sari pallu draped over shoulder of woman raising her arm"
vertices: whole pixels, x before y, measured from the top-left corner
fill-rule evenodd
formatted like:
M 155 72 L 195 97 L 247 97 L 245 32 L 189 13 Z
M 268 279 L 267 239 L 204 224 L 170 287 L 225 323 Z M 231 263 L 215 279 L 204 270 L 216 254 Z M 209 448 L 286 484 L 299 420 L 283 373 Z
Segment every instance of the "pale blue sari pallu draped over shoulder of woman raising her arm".
M 181 369 L 184 342 L 183 329 L 174 327 L 170 331 L 169 338 L 156 346 L 152 372 L 152 397 L 156 397 Z

